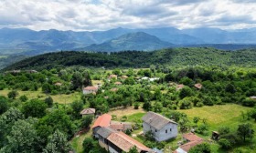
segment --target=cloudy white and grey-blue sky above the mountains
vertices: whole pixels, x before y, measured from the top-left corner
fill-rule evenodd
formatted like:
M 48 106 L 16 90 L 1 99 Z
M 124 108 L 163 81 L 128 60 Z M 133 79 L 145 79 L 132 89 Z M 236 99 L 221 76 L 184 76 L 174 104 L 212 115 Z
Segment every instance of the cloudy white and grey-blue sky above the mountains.
M 256 27 L 256 0 L 0 0 L 0 28 Z

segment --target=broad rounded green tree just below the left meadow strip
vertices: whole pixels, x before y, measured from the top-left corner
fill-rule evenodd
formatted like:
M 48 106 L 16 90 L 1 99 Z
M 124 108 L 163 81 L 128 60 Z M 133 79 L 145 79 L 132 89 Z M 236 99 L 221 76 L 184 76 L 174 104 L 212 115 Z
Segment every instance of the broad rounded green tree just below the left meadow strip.
M 46 115 L 47 105 L 39 99 L 31 99 L 22 107 L 25 117 L 44 117 Z

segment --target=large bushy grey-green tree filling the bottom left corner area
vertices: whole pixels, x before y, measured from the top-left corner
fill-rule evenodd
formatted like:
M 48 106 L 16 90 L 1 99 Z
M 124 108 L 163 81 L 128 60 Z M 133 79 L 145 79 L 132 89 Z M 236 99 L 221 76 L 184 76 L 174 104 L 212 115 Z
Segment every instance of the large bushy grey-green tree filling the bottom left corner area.
M 36 152 L 37 131 L 34 128 L 35 119 L 17 120 L 8 135 L 8 143 L 4 152 Z

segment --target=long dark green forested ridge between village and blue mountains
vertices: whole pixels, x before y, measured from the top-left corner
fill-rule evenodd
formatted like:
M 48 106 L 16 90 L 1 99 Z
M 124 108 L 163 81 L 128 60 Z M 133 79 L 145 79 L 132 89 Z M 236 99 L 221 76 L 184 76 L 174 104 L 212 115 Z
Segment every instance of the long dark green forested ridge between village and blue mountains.
M 154 52 L 119 53 L 58 52 L 29 57 L 5 70 L 50 69 L 63 66 L 148 67 L 165 66 L 256 66 L 256 49 L 221 51 L 208 47 L 170 48 Z

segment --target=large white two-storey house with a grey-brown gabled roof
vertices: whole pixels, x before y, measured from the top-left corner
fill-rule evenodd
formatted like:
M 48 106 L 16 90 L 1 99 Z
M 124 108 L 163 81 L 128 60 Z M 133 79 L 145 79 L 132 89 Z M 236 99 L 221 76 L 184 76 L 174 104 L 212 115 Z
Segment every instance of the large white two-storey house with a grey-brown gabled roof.
M 155 112 L 147 112 L 143 117 L 144 134 L 151 131 L 156 141 L 165 141 L 177 136 L 177 123 Z

